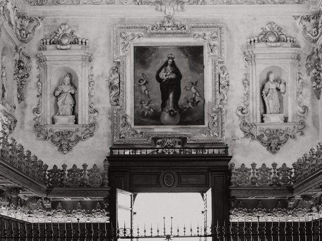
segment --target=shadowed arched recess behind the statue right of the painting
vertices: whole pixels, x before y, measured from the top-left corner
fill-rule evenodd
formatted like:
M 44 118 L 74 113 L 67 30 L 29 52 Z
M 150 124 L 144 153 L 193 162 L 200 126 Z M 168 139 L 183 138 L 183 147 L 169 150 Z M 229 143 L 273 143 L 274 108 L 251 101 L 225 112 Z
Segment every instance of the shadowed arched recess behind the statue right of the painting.
M 263 121 L 263 114 L 266 113 L 266 107 L 265 107 L 265 101 L 263 99 L 263 89 L 264 89 L 264 85 L 267 81 L 269 81 L 269 75 L 271 73 L 275 74 L 275 79 L 274 81 L 277 82 L 282 82 L 282 83 L 287 83 L 287 74 L 285 73 L 285 71 L 278 66 L 269 66 L 267 68 L 265 68 L 261 74 L 260 74 L 260 88 L 259 88 L 259 95 L 260 95 L 260 114 L 262 116 L 261 121 Z M 281 91 L 277 91 L 278 94 L 278 99 L 280 102 L 280 113 L 285 113 L 285 119 L 284 122 L 287 122 L 287 113 L 288 113 L 288 101 L 287 101 L 287 91 L 285 91 L 285 93 L 282 93 Z

